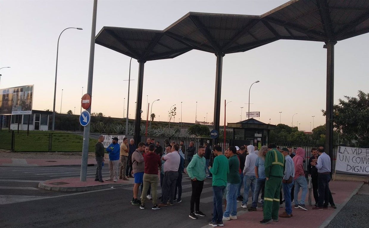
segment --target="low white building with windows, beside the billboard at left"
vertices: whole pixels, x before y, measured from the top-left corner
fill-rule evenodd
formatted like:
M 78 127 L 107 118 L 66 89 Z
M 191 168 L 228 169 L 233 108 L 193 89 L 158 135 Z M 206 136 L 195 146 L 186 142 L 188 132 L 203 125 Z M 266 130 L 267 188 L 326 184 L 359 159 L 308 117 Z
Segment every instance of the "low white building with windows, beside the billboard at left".
M 27 130 L 29 124 L 30 131 L 47 131 L 49 129 L 49 117 L 52 112 L 32 110 L 30 115 L 11 115 L 10 130 Z

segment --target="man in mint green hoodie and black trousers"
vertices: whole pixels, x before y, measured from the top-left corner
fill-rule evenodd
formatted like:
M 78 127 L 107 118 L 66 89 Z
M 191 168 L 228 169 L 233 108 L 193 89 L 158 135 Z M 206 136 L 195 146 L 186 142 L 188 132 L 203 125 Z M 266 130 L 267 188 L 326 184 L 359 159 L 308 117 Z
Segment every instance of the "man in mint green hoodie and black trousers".
M 197 216 L 204 217 L 205 214 L 200 211 L 200 196 L 203 191 L 204 180 L 205 180 L 205 165 L 206 159 L 204 146 L 199 146 L 197 154 L 193 156 L 193 159 L 187 166 L 187 173 L 191 179 L 192 194 L 190 201 L 190 218 L 197 219 Z M 196 210 L 194 206 L 196 204 Z

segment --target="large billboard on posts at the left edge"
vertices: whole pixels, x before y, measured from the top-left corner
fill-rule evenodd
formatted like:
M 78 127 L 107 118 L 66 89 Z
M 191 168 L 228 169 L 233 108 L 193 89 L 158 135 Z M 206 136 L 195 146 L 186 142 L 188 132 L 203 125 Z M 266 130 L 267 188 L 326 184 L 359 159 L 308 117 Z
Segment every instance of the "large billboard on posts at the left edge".
M 32 114 L 33 85 L 0 90 L 0 115 Z

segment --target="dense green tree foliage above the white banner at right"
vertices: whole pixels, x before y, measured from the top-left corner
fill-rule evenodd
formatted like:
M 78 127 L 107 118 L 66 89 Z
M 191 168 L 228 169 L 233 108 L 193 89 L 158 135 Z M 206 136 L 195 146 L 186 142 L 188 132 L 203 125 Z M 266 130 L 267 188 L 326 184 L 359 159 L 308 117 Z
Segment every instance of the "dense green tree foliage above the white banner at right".
M 358 97 L 344 96 L 334 105 L 333 126 L 349 142 L 359 147 L 369 147 L 369 93 L 358 91 Z M 326 111 L 322 110 L 323 115 Z

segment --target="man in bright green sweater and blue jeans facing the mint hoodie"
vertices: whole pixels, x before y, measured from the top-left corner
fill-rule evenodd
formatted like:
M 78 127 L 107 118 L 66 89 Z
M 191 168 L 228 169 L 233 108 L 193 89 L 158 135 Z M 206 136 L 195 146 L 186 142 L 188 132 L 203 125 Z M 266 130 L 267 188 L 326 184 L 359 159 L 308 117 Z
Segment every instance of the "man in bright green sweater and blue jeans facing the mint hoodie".
M 214 152 L 217 156 L 214 158 L 213 167 L 209 166 L 211 174 L 213 174 L 213 218 L 209 225 L 212 227 L 223 227 L 223 207 L 222 198 L 224 189 L 227 186 L 227 175 L 230 172 L 228 159 L 223 155 L 220 145 L 214 146 Z

